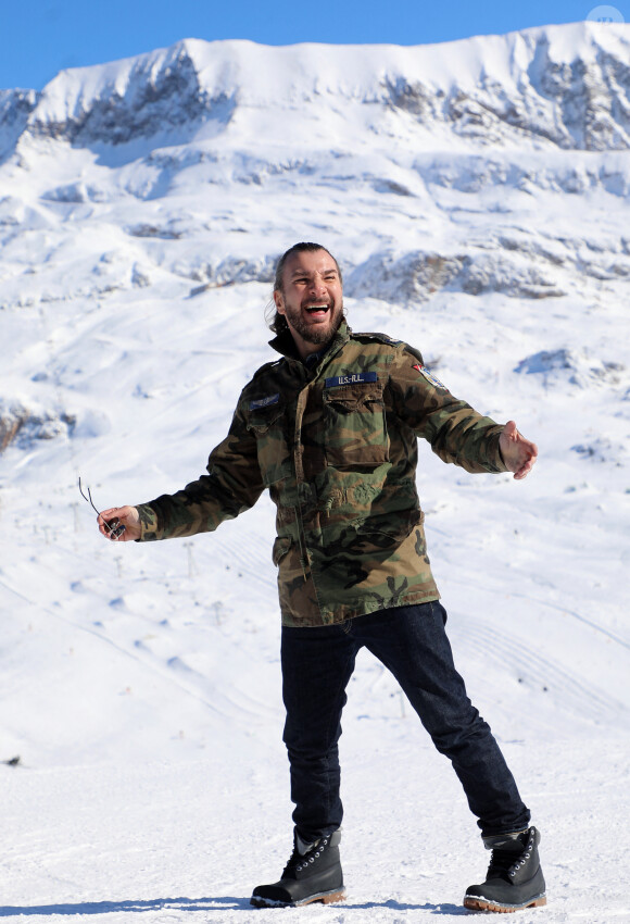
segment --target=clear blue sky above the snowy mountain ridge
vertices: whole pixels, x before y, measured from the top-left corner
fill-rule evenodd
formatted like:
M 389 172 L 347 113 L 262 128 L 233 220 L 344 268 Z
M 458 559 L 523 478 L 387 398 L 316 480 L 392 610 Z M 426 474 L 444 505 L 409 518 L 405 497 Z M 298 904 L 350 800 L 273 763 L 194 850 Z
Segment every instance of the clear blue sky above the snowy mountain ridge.
M 0 88 L 181 38 L 424 45 L 585 20 L 597 0 L 0 0 Z M 630 22 L 630 0 L 617 0 Z

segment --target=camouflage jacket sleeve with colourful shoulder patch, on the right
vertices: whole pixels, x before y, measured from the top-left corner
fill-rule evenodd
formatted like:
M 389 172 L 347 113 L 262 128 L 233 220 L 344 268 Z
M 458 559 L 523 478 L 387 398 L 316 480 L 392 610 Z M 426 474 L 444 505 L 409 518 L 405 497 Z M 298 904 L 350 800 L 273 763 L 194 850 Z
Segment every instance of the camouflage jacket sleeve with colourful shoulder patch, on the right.
M 443 462 L 475 474 L 507 472 L 499 449 L 503 425 L 451 395 L 410 348 L 392 364 L 390 389 L 398 416 Z

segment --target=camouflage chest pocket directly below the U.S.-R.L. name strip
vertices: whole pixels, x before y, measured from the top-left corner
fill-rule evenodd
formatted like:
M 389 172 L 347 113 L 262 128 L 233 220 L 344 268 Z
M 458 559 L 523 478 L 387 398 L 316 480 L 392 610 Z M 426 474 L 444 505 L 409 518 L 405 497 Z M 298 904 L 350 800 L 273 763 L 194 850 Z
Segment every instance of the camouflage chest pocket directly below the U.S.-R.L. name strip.
M 389 460 L 381 383 L 326 389 L 324 410 L 329 465 L 373 469 Z

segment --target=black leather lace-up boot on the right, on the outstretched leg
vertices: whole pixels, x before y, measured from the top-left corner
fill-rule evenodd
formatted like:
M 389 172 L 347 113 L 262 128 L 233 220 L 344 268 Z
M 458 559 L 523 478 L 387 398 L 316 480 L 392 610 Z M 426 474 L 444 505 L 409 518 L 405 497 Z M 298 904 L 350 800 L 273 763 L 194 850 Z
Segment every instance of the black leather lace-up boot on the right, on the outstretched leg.
M 492 850 L 486 882 L 468 886 L 464 907 L 472 911 L 509 912 L 546 904 L 545 884 L 540 869 L 540 833 L 530 827 L 516 834 L 484 837 Z

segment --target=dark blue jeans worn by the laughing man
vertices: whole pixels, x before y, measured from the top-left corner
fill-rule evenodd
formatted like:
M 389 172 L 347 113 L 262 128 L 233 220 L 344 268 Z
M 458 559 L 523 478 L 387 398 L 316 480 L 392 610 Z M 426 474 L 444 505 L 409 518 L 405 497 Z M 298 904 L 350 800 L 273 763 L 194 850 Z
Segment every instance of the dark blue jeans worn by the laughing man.
M 282 628 L 285 744 L 293 822 L 311 842 L 341 825 L 339 737 L 345 687 L 365 646 L 394 675 L 440 753 L 452 762 L 484 836 L 530 819 L 490 726 L 455 670 L 438 602 L 380 610 L 340 625 Z

